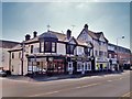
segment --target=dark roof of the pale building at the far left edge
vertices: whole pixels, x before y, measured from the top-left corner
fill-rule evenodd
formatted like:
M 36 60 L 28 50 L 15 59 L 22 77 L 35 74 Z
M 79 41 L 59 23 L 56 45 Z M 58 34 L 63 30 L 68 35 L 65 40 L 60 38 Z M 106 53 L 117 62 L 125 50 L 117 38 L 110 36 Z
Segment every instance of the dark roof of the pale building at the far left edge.
M 14 41 L 0 40 L 0 47 L 2 47 L 2 48 L 12 48 L 18 44 L 20 44 L 20 43 L 14 42 Z

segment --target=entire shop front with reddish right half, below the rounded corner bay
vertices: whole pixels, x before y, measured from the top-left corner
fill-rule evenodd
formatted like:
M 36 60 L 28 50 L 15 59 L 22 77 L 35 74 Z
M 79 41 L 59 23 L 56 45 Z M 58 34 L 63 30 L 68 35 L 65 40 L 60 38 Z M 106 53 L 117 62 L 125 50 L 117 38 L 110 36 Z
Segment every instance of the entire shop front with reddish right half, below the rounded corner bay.
M 28 73 L 37 75 L 57 75 L 66 73 L 65 57 L 36 56 L 28 57 Z

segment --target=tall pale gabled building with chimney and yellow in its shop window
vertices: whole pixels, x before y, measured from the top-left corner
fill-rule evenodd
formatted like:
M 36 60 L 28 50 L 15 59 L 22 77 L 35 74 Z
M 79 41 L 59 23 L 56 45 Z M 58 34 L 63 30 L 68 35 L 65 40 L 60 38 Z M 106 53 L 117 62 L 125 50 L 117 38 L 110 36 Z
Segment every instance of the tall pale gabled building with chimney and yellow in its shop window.
M 109 69 L 108 62 L 108 40 L 102 32 L 89 31 L 88 25 L 85 24 L 82 31 L 77 40 L 90 42 L 94 45 L 92 50 L 92 70 Z

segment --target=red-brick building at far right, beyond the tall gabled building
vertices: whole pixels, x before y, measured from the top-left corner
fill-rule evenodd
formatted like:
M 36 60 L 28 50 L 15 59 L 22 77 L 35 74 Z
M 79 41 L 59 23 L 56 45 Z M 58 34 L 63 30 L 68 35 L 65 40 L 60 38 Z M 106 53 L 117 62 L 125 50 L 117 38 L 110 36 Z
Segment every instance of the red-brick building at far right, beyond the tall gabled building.
M 119 70 L 122 66 L 128 68 L 131 65 L 131 51 L 129 48 L 117 46 L 114 44 L 108 44 L 108 57 L 111 62 L 112 68 Z M 116 67 L 118 66 L 119 67 Z

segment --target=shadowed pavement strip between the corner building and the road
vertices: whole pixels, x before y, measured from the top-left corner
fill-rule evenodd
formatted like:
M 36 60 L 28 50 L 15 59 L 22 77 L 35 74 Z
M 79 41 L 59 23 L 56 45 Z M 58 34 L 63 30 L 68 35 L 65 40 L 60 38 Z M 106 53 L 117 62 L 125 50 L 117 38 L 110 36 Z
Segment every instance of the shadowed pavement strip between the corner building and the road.
M 122 74 L 123 72 L 102 72 L 102 73 L 88 73 L 85 75 L 77 74 L 77 75 L 55 75 L 55 76 L 15 76 L 11 75 L 6 78 L 13 79 L 13 80 L 25 80 L 25 81 L 50 81 L 50 80 L 59 80 L 59 79 L 69 79 L 69 78 L 82 78 L 82 77 L 94 77 L 94 76 L 103 76 L 110 74 Z

